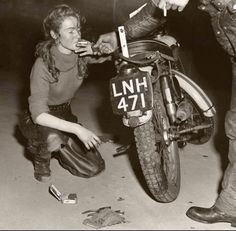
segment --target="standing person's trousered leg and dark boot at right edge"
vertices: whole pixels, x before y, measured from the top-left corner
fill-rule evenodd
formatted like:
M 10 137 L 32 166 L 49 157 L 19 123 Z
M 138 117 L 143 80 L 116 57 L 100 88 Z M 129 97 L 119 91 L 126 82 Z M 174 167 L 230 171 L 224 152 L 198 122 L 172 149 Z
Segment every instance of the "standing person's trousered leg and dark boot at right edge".
M 224 172 L 222 190 L 211 208 L 194 206 L 186 215 L 203 223 L 228 222 L 236 227 L 236 63 L 232 63 L 231 103 L 225 117 L 225 132 L 229 139 L 229 163 Z

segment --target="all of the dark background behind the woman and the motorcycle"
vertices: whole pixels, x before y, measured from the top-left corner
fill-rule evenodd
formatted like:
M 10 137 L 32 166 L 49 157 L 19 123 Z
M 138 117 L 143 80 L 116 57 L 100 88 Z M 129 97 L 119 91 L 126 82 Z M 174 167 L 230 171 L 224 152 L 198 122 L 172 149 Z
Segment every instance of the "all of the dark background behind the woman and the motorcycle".
M 28 78 L 34 62 L 35 45 L 43 40 L 42 20 L 54 5 L 67 3 L 86 17 L 93 38 L 109 32 L 128 19 L 145 0 L 0 0 L 0 69 L 16 70 Z M 230 63 L 213 35 L 209 17 L 190 0 L 184 12 L 168 11 L 168 26 L 187 54 L 188 74 L 196 69 L 200 82 L 213 88 L 230 86 Z M 109 76 L 111 64 L 94 67 L 92 73 Z M 96 65 L 95 65 L 96 66 Z M 100 72 L 99 72 L 100 71 Z M 195 77 L 196 78 L 196 77 Z

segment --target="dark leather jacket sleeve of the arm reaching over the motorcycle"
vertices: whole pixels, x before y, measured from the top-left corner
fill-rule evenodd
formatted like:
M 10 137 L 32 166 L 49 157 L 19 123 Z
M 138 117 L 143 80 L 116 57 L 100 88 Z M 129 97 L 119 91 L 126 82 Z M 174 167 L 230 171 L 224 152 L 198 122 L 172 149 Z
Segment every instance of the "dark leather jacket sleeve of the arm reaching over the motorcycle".
M 140 12 L 124 23 L 128 40 L 144 37 L 166 21 L 156 4 L 157 0 L 149 0 Z

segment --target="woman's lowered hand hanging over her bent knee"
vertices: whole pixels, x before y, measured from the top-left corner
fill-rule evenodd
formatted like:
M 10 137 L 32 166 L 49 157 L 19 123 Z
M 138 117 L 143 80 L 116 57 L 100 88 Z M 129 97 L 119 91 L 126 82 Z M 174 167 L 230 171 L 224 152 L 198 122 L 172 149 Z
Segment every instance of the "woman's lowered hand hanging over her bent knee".
M 101 144 L 101 140 L 98 136 L 79 124 L 75 127 L 74 134 L 83 142 L 88 150 L 90 148 L 96 148 Z

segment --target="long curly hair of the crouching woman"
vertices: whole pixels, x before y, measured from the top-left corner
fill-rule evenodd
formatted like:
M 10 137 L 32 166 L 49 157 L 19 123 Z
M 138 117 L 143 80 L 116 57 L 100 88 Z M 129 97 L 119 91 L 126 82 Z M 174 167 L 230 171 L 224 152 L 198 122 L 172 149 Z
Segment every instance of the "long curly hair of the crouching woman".
M 82 17 L 78 11 L 66 4 L 57 5 L 54 7 L 43 21 L 43 29 L 46 40 L 36 45 L 36 57 L 41 57 L 47 65 L 55 82 L 58 82 L 60 70 L 55 66 L 55 60 L 51 54 L 51 47 L 55 45 L 55 40 L 51 37 L 50 31 L 59 33 L 62 22 L 67 17 L 75 17 L 80 24 L 85 23 L 85 18 Z M 79 76 L 87 77 L 88 69 L 84 58 L 78 58 L 78 72 Z

